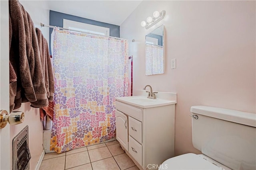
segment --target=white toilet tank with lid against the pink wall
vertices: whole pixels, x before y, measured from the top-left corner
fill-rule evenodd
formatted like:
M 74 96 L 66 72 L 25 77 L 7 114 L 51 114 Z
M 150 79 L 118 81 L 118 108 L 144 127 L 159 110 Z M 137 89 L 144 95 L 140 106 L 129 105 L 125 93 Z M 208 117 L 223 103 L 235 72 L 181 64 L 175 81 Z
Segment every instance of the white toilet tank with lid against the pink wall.
M 256 114 L 192 106 L 192 142 L 206 156 L 233 170 L 256 170 Z

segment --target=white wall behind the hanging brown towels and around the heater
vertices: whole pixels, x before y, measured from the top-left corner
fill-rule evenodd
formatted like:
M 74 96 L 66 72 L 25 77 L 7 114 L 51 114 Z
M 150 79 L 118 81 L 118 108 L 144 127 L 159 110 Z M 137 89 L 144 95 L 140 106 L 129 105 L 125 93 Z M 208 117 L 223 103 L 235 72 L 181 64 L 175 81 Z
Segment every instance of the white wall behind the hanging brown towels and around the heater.
M 48 2 L 20 0 L 20 3 L 30 14 L 35 27 L 38 27 L 47 41 L 49 41 L 49 28 L 40 27 L 40 22 L 49 25 Z M 23 103 L 22 106 L 15 111 L 23 111 L 25 113 L 25 120 L 19 125 L 10 126 L 10 137 L 13 139 L 26 125 L 28 125 L 29 149 L 31 154 L 30 169 L 34 170 L 43 151 L 43 127 L 42 122 L 40 121 L 39 109 L 30 107 L 30 103 L 28 102 Z

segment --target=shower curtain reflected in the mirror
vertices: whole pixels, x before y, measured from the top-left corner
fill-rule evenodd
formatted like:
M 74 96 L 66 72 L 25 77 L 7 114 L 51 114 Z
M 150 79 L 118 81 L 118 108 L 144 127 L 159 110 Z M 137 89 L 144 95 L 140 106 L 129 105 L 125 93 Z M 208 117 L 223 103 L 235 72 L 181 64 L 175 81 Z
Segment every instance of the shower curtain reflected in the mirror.
M 146 75 L 164 72 L 163 47 L 146 44 Z

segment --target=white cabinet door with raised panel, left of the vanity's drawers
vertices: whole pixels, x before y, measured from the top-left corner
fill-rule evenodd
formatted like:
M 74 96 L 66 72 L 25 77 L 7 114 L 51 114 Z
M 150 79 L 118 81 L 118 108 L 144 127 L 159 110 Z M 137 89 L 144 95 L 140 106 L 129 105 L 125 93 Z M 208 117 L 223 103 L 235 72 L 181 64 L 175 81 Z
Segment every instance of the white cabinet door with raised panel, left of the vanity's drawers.
M 116 110 L 116 140 L 128 150 L 128 116 Z

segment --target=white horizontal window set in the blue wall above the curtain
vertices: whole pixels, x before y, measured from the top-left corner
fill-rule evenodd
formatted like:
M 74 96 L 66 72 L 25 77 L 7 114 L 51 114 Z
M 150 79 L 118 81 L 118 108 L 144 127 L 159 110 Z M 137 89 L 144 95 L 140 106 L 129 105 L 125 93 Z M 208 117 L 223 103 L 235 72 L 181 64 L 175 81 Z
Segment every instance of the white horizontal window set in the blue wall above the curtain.
M 109 28 L 63 19 L 63 27 L 77 31 L 109 36 Z

